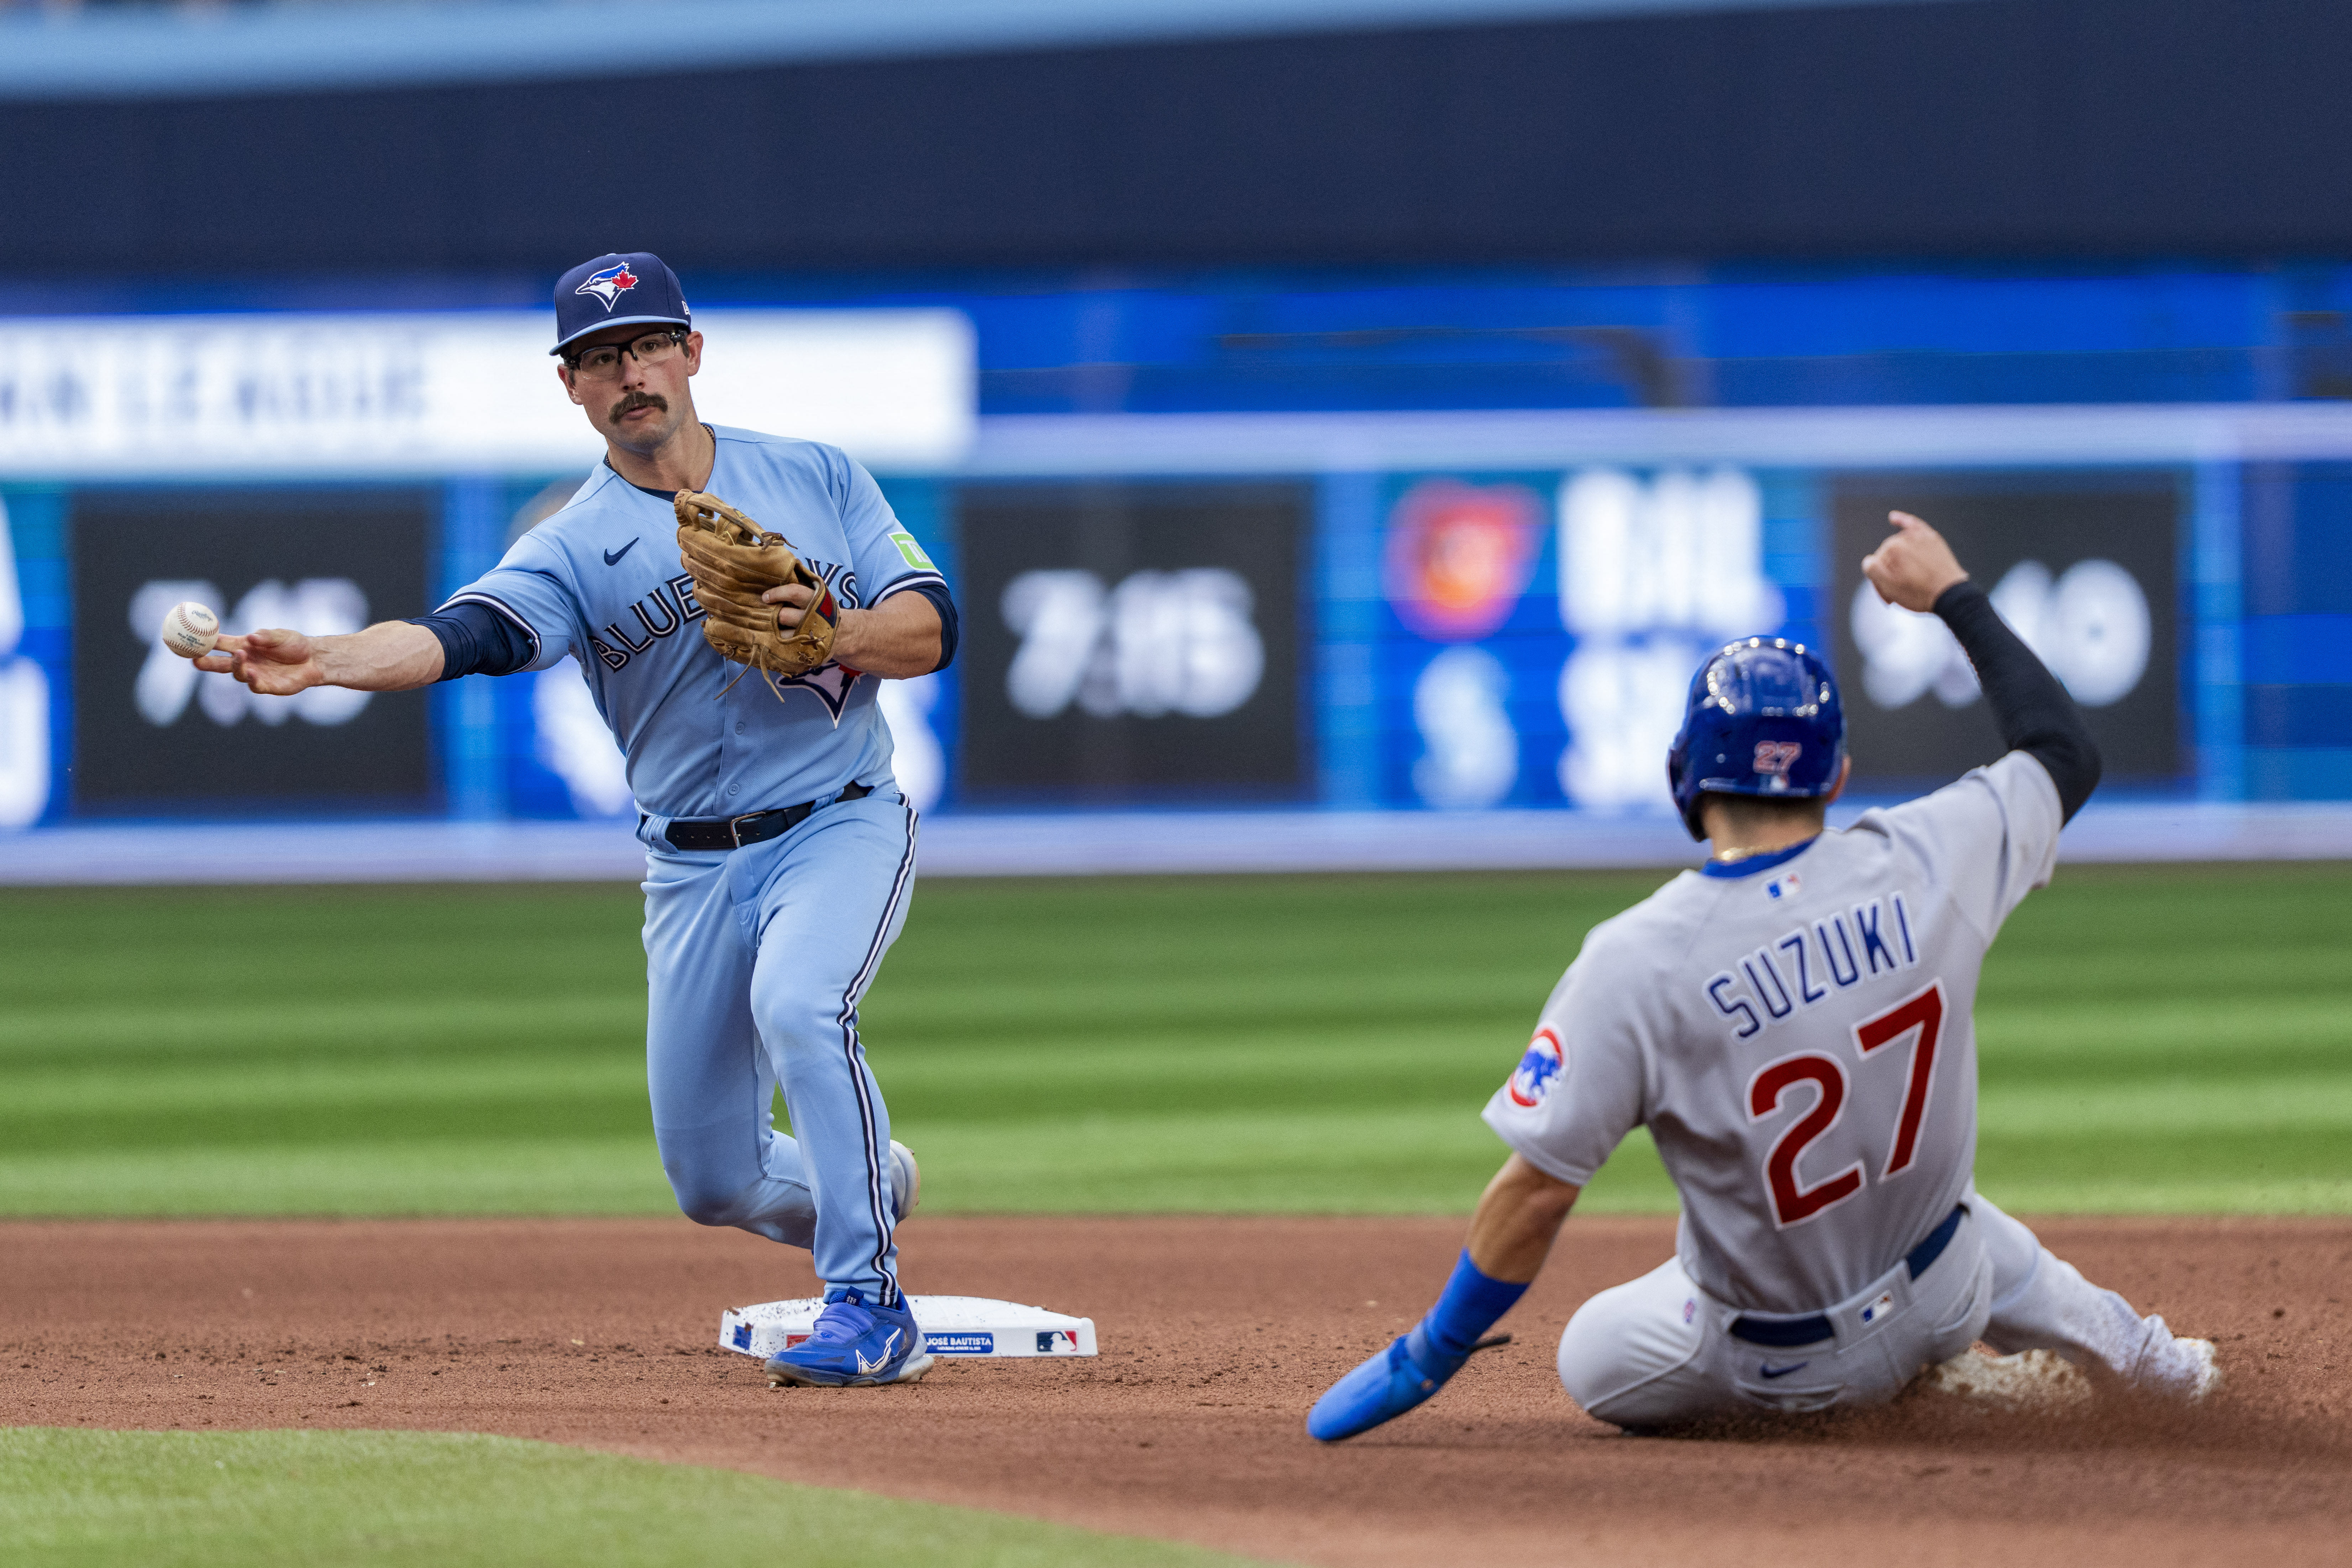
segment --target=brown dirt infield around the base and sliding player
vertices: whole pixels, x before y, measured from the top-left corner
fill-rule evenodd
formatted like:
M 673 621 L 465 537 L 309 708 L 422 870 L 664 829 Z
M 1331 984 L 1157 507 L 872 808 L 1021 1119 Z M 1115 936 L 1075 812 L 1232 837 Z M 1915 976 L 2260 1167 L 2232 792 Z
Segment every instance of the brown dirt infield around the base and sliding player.
M 720 1307 L 811 1279 L 684 1220 L 9 1222 L 0 1422 L 506 1432 L 1308 1563 L 2352 1561 L 2352 1222 L 2039 1229 L 2220 1340 L 2218 1408 L 1621 1436 L 1550 1349 L 1663 1220 L 1571 1220 L 1517 1345 L 1341 1448 L 1308 1403 L 1428 1302 L 1456 1220 L 917 1218 L 915 1291 L 1089 1314 L 1103 1356 L 873 1392 L 715 1349 Z

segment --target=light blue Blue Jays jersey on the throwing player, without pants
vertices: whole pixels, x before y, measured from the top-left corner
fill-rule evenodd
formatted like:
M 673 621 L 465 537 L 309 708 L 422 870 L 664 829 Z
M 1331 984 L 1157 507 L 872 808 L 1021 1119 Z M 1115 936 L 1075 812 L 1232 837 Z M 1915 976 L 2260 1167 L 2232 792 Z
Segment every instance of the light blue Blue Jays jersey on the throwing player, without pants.
M 835 447 L 724 425 L 713 435 L 706 489 L 783 534 L 844 607 L 943 583 L 873 475 Z M 779 703 L 757 672 L 720 658 L 677 559 L 670 498 L 604 463 L 564 510 L 449 597 L 468 602 L 529 635 L 532 670 L 581 663 L 628 757 L 628 788 L 656 818 L 647 832 L 673 816 L 741 816 L 889 778 L 875 677 L 828 663 L 781 682 Z

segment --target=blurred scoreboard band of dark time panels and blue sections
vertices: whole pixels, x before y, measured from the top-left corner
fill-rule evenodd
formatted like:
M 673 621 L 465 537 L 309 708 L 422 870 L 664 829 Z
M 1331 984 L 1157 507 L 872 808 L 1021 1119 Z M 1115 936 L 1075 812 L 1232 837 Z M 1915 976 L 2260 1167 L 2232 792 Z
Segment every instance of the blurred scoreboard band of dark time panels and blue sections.
M 176 599 L 230 630 L 423 614 L 574 484 L 5 496 L 0 809 L 16 823 L 630 813 L 572 665 L 254 698 L 153 642 Z M 2211 773 L 2216 689 L 2183 632 L 2190 470 L 1708 463 L 884 489 L 962 609 L 957 663 L 882 689 L 901 778 L 931 806 L 1663 811 L 1691 672 L 1748 635 L 1835 661 L 1863 795 L 1931 788 L 1999 738 L 1943 625 L 1860 581 L 1893 508 L 1950 534 L 2074 691 L 2110 788 L 2183 795 Z

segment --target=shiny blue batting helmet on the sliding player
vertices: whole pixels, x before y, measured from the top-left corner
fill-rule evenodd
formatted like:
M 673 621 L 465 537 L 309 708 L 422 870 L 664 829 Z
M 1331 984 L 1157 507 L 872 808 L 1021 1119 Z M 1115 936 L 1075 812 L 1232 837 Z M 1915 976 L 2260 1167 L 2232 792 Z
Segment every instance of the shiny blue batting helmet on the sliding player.
M 1748 637 L 1710 654 L 1691 677 L 1665 780 L 1682 825 L 1703 839 L 1705 790 L 1813 799 L 1837 788 L 1844 759 L 1846 710 L 1830 665 L 1802 642 Z

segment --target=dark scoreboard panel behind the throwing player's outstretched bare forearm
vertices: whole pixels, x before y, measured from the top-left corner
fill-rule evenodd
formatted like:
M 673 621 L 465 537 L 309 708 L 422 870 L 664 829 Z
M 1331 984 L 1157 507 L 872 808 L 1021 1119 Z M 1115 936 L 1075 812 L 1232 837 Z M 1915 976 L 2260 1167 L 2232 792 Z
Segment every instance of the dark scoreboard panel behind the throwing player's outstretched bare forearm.
M 212 607 L 226 632 L 423 614 L 430 517 L 428 496 L 386 491 L 75 498 L 75 811 L 430 806 L 423 691 L 254 696 L 155 639 L 181 599 Z

